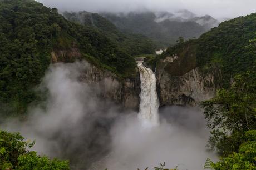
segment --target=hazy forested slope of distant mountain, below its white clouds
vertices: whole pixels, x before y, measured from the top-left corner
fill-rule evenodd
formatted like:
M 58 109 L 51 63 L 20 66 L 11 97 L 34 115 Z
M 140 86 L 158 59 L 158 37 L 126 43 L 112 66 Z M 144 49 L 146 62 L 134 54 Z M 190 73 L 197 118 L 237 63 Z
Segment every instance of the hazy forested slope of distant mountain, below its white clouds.
M 166 48 L 171 44 L 176 44 L 180 35 L 189 39 L 199 37 L 207 30 L 194 21 L 178 22 L 165 19 L 162 22 L 156 22 L 157 17 L 154 12 L 104 13 L 103 16 L 114 23 L 122 32 L 143 34 L 151 38 L 157 44 L 157 48 Z

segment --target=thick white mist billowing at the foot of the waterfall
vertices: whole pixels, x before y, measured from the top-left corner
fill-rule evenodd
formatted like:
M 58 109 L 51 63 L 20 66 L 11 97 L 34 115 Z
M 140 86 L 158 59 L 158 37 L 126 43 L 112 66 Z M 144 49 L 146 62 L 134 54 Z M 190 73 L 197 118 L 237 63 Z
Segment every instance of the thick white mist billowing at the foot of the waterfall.
M 166 107 L 160 111 L 161 124 L 145 128 L 136 115 L 122 117 L 112 128 L 111 153 L 95 163 L 94 169 L 203 169 L 206 158 L 216 155 L 206 150 L 209 131 L 203 113 L 196 107 Z

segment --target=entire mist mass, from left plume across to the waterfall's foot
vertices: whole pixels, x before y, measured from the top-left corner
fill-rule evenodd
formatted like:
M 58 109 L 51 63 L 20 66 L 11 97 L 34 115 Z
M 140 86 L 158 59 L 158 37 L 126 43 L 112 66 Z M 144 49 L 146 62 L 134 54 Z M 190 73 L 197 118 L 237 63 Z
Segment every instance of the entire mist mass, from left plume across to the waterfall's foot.
M 120 112 L 98 96 L 101 87 L 80 81 L 88 68 L 87 62 L 51 64 L 38 87 L 45 101 L 32 104 L 26 120 L 0 127 L 36 139 L 38 153 L 70 159 L 72 169 L 152 169 L 165 162 L 166 168 L 198 170 L 206 158 L 215 159 L 206 151 L 209 131 L 200 109 L 165 107 L 160 126 L 142 126 L 137 113 Z

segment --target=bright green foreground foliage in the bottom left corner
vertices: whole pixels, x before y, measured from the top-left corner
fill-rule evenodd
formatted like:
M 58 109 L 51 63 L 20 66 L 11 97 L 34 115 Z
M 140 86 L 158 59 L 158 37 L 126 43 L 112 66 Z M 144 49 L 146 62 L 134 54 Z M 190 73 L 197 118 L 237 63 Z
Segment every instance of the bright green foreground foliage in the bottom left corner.
M 70 169 L 68 161 L 50 160 L 27 151 L 34 144 L 24 142 L 19 133 L 0 131 L 0 169 Z

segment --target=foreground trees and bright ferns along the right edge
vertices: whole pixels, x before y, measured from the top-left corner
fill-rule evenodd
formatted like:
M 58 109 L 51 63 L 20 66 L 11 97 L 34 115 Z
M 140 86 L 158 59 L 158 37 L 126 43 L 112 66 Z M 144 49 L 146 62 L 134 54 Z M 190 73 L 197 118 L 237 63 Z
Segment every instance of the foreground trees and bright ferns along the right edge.
M 240 57 L 244 60 L 234 59 L 238 68 L 233 69 L 231 87 L 220 89 L 216 97 L 202 103 L 211 129 L 209 146 L 223 156 L 212 164 L 214 169 L 255 169 L 256 166 L 255 39 L 242 47 L 242 51 Z

